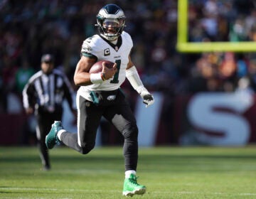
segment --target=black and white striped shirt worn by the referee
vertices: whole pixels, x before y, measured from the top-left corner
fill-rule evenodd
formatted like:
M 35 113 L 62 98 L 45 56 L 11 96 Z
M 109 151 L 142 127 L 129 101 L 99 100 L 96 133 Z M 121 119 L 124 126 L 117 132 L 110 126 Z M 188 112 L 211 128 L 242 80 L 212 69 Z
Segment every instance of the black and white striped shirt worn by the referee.
M 23 89 L 23 107 L 43 107 L 51 112 L 62 107 L 65 98 L 72 109 L 73 92 L 73 87 L 63 72 L 54 69 L 46 75 L 40 70 L 28 80 Z

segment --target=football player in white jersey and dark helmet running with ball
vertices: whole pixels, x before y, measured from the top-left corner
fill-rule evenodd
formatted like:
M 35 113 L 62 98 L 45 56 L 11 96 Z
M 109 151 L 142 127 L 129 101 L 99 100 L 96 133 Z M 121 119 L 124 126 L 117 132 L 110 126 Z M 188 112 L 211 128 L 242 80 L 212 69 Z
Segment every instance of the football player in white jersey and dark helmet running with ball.
M 62 142 L 66 146 L 88 154 L 95 147 L 97 128 L 101 117 L 105 117 L 124 136 L 124 196 L 142 195 L 144 185 L 137 183 L 138 127 L 125 96 L 120 89 L 125 78 L 142 97 L 146 107 L 154 103 L 154 97 L 144 87 L 130 52 L 133 47 L 125 26 L 124 11 L 115 4 L 107 4 L 97 14 L 99 35 L 87 38 L 82 43 L 81 58 L 77 64 L 74 82 L 80 86 L 76 102 L 78 107 L 78 134 L 63 129 L 61 122 L 55 121 L 46 136 L 46 146 L 53 149 Z M 99 60 L 115 63 L 107 68 L 103 63 L 102 72 L 89 73 Z

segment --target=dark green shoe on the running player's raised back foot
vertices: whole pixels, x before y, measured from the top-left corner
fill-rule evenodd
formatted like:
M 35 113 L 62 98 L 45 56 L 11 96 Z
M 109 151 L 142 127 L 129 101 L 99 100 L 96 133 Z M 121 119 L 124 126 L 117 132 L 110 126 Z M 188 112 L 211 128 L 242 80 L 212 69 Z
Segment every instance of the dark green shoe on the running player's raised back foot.
M 46 146 L 48 149 L 53 149 L 55 144 L 60 144 L 61 141 L 58 139 L 57 133 L 63 129 L 60 121 L 55 121 L 52 124 L 52 128 L 50 129 L 50 132 L 46 136 Z

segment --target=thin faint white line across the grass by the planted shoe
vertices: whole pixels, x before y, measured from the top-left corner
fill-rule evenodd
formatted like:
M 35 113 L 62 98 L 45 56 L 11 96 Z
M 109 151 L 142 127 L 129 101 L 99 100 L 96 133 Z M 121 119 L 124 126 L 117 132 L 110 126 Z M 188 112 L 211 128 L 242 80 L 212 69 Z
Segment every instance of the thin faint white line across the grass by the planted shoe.
M 73 189 L 73 188 L 66 188 L 66 189 L 57 189 L 57 188 L 18 188 L 18 187 L 14 187 L 14 188 L 0 188 L 0 190 L 55 190 L 55 191 L 81 191 L 81 192 L 106 192 L 106 190 L 86 190 L 86 189 Z M 118 192 L 119 191 L 115 191 L 115 190 L 107 190 L 107 192 Z M 164 193 L 164 194 L 170 194 L 170 193 L 178 193 L 178 194 L 201 194 L 202 192 L 193 192 L 193 191 L 177 191 L 177 192 L 173 192 L 173 191 L 151 191 L 151 193 Z M 256 195 L 256 193 L 218 193 L 218 192 L 213 192 L 213 193 L 203 193 L 203 194 L 211 194 L 211 195 Z

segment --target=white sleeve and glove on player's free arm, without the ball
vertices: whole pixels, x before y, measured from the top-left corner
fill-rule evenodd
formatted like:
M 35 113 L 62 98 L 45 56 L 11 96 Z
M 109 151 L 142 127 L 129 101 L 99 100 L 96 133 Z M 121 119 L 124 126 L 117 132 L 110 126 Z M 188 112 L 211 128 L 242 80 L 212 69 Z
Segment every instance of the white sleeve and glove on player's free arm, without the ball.
M 143 103 L 146 104 L 146 107 L 149 107 L 151 104 L 154 104 L 154 97 L 144 87 L 135 66 L 132 66 L 132 68 L 126 70 L 126 77 L 131 83 L 134 90 L 137 90 L 139 95 L 142 97 Z

